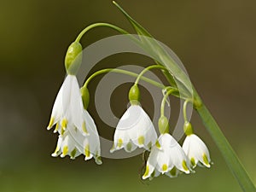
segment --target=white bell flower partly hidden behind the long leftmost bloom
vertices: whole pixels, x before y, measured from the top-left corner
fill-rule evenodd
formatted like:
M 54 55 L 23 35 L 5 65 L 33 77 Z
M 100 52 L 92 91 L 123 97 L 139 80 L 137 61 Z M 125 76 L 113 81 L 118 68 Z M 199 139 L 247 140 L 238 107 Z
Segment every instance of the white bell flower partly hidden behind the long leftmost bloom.
M 92 157 L 96 160 L 96 164 L 102 164 L 100 138 L 96 130 L 94 120 L 90 117 L 90 113 L 86 110 L 83 112 L 84 131 L 80 131 L 75 127 L 67 126 L 67 130 L 59 135 L 55 152 L 52 154 L 56 157 L 61 154 L 61 157 L 69 155 L 71 159 L 84 154 L 84 160 L 90 160 Z

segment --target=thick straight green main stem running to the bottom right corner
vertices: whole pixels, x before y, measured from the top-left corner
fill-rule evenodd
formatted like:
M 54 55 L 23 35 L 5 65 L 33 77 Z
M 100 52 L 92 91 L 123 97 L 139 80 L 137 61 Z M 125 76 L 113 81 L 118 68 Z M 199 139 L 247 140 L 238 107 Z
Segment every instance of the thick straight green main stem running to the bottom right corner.
M 226 137 L 224 137 L 223 132 L 218 127 L 218 124 L 213 119 L 212 114 L 208 111 L 207 107 L 202 104 L 200 108 L 197 108 L 197 112 L 200 114 L 204 125 L 207 127 L 207 131 L 218 146 L 218 149 L 222 153 L 227 165 L 230 167 L 231 172 L 236 177 L 241 189 L 246 192 L 255 192 L 256 189 L 252 180 L 248 176 L 245 168 L 241 165 L 235 151 L 230 146 Z

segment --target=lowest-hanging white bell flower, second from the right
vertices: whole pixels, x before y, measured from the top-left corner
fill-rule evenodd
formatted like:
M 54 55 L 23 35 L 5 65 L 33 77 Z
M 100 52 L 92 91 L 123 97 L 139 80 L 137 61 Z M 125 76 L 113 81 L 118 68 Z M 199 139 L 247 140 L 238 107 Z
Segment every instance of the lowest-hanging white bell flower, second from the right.
M 158 177 L 160 173 L 169 177 L 177 177 L 179 171 L 189 174 L 187 164 L 183 148 L 170 134 L 162 134 L 149 154 L 143 179 Z

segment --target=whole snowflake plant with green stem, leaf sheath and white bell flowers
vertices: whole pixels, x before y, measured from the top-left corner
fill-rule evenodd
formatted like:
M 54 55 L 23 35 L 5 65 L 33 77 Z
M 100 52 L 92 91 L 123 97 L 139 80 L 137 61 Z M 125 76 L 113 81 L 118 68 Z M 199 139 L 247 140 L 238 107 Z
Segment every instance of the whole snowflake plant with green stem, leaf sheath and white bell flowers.
M 208 148 L 201 138 L 195 134 L 187 117 L 187 106 L 190 104 L 201 116 L 203 124 L 223 154 L 224 160 L 236 177 L 241 189 L 247 192 L 256 191 L 252 180 L 248 177 L 230 143 L 212 118 L 195 87 L 190 83 L 188 75 L 177 65 L 172 55 L 143 26 L 133 20 L 119 4 L 115 2 L 113 4 L 131 22 L 137 36 L 126 32 L 119 26 L 109 23 L 95 23 L 84 28 L 69 46 L 65 57 L 67 77 L 56 96 L 47 127 L 50 130 L 55 126 L 54 132 L 59 134 L 55 152 L 52 156 L 61 155 L 61 157 L 65 157 L 69 155 L 71 159 L 75 159 L 80 154 L 84 154 L 85 160 L 90 160 L 93 157 L 96 164 L 102 164 L 100 137 L 96 124 L 87 111 L 90 102 L 88 84 L 102 73 L 120 73 L 134 77 L 135 82 L 128 94 L 131 105 L 119 119 L 116 126 L 113 147 L 109 148 L 111 153 L 115 153 L 115 151 L 122 148 L 127 153 L 131 153 L 137 148 L 148 151 L 149 156 L 145 172 L 143 172 L 143 179 L 152 179 L 160 176 L 160 174 L 166 174 L 168 177 L 177 177 L 182 173 L 189 174 L 194 172 L 197 165 L 210 168 L 211 158 Z M 144 68 L 141 73 L 133 73 L 119 68 L 105 68 L 93 73 L 80 88 L 76 75 L 82 63 L 83 48 L 79 41 L 86 32 L 97 26 L 106 26 L 127 36 L 131 42 L 154 59 L 154 65 Z M 153 79 L 146 78 L 144 74 L 152 69 L 159 69 L 165 75 L 168 84 L 161 84 Z M 159 136 L 154 129 L 153 122 L 143 110 L 143 106 L 140 105 L 140 80 L 153 84 L 163 92 L 157 125 L 160 132 Z M 183 132 L 186 137 L 182 146 L 170 134 L 169 120 L 165 113 L 169 96 L 176 96 L 183 101 Z

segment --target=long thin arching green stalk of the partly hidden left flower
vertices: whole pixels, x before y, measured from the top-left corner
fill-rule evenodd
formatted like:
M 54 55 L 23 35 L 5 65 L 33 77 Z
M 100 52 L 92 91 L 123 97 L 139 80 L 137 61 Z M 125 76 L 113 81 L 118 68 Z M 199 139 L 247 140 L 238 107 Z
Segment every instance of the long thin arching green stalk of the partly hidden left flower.
M 92 75 L 90 75 L 90 77 L 85 81 L 84 87 L 87 87 L 90 80 L 95 78 L 97 75 L 102 74 L 102 73 L 109 73 L 109 72 L 111 72 L 111 73 L 122 73 L 122 74 L 130 75 L 132 77 L 138 77 L 137 73 L 132 73 L 132 72 L 129 72 L 129 71 L 126 71 L 126 70 L 123 70 L 123 69 L 105 68 L 105 69 L 102 69 L 102 70 L 97 71 L 96 73 L 93 73 Z M 153 84 L 154 86 L 159 87 L 160 89 L 165 89 L 165 87 L 166 87 L 164 84 L 160 84 L 160 83 L 158 83 L 158 82 L 156 82 L 152 79 L 148 79 L 148 78 L 145 78 L 145 77 L 141 77 L 141 79 L 143 79 L 143 81 L 148 82 L 149 84 Z

